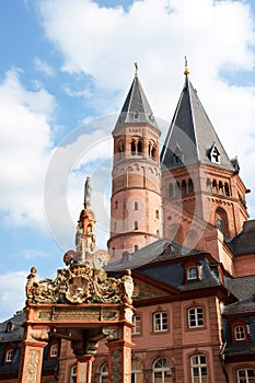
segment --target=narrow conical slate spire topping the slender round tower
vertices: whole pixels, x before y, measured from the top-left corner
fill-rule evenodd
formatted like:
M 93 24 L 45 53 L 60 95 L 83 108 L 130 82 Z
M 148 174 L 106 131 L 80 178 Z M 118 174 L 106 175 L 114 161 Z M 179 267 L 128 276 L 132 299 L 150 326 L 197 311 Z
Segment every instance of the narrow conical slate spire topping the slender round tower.
M 143 92 L 140 80 L 138 78 L 137 63 L 135 63 L 135 66 L 136 66 L 135 79 L 128 92 L 127 98 L 124 103 L 123 109 L 119 114 L 118 120 L 115 126 L 115 130 L 125 123 L 129 123 L 129 124 L 148 123 L 154 126 L 155 128 L 158 128 L 152 109 L 149 105 L 149 102 L 147 100 L 147 96 Z

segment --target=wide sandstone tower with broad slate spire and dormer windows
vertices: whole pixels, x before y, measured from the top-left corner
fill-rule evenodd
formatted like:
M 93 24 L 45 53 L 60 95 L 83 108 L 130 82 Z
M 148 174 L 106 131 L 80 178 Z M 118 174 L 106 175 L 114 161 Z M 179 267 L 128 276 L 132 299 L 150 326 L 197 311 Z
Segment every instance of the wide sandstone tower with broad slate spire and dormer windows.
M 193 88 L 187 62 L 184 74 L 161 153 L 164 236 L 190 245 L 197 235 L 190 231 L 196 218 L 232 239 L 248 217 L 248 190 L 240 178 L 237 160 L 229 159 Z

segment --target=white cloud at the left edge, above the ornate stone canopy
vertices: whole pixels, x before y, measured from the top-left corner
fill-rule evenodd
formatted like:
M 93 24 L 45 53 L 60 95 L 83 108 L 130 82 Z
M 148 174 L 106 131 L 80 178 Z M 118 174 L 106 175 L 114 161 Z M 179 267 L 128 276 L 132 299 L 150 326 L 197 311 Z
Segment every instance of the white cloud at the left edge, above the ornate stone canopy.
M 47 91 L 23 86 L 15 69 L 0 83 L 0 209 L 7 223 L 44 225 L 43 184 L 54 107 Z

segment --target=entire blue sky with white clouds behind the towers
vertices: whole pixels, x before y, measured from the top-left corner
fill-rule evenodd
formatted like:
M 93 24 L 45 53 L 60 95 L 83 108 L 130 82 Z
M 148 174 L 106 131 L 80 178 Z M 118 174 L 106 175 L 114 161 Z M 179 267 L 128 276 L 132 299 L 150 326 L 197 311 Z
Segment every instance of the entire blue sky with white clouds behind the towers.
M 135 61 L 164 140 L 188 57 L 255 217 L 254 18 L 252 0 L 0 2 L 0 320 L 24 306 L 32 266 L 38 278 L 63 267 L 86 175 L 106 247 L 111 132 Z

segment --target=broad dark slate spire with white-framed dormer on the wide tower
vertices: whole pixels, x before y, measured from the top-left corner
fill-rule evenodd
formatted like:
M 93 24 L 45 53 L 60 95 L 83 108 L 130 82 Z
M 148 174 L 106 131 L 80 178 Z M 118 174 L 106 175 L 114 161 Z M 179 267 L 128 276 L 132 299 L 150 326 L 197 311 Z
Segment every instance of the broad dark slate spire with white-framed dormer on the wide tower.
M 161 152 L 163 169 L 200 162 L 233 171 L 234 166 L 189 81 L 186 59 L 184 74 L 184 88 Z

